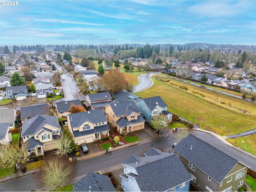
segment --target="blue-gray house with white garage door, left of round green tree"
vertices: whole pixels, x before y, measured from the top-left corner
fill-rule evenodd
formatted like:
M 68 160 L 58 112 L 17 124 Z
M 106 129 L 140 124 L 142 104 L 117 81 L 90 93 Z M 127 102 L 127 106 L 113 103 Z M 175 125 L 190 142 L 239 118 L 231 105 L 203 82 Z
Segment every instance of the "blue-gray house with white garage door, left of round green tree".
M 6 87 L 5 91 L 8 99 L 23 100 L 28 96 L 26 85 Z

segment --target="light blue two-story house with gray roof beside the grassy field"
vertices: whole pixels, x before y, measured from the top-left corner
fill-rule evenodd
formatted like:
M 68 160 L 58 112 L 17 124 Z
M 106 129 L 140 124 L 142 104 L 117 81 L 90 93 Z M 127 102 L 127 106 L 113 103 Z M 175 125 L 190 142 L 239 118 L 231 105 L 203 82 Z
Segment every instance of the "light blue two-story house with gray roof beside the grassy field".
M 147 122 L 150 122 L 154 116 L 163 114 L 168 121 L 172 120 L 172 114 L 167 111 L 167 104 L 160 96 L 143 98 L 135 101 L 138 109 L 141 111 L 141 116 Z

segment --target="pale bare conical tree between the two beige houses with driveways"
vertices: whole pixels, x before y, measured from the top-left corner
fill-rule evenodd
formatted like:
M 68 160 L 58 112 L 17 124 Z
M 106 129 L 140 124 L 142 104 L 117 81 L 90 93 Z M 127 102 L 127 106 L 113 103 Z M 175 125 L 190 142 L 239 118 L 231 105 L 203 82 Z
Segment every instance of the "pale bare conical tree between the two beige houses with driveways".
M 72 153 L 74 151 L 75 142 L 67 129 L 63 130 L 62 137 L 60 138 L 60 142 L 56 144 L 56 148 L 57 150 L 55 154 L 59 156 L 68 156 L 68 153 Z

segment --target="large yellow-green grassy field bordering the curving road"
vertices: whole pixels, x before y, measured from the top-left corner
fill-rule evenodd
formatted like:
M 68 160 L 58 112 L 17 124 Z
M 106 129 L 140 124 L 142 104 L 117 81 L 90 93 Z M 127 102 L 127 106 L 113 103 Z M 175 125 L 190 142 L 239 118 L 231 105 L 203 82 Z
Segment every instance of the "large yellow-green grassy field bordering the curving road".
M 136 93 L 136 95 L 142 98 L 161 96 L 169 106 L 168 111 L 190 122 L 193 121 L 193 116 L 195 116 L 195 124 L 202 129 L 224 136 L 251 130 L 256 126 L 255 116 L 247 116 L 242 113 L 235 114 L 228 111 L 230 108 L 237 112 L 247 110 L 250 114 L 256 115 L 256 105 L 251 102 L 205 89 L 202 90 L 175 80 L 170 80 L 170 82 L 166 83 L 156 80 L 156 76 L 153 76 L 152 79 L 154 85 L 150 89 Z M 170 83 L 176 85 L 171 85 Z M 186 86 L 188 90 L 182 90 L 179 86 Z M 198 92 L 199 94 L 192 94 L 192 92 Z M 200 96 L 200 94 L 203 94 L 204 97 Z M 199 96 L 199 98 L 195 95 Z M 223 108 L 210 104 L 210 101 Z

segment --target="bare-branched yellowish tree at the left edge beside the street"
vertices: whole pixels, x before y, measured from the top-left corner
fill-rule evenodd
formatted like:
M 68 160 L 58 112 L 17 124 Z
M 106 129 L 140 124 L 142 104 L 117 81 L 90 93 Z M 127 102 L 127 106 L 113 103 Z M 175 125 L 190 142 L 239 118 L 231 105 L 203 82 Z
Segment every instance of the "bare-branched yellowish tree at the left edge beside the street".
M 16 172 L 16 164 L 26 164 L 26 158 L 24 157 L 24 150 L 27 146 L 9 144 L 7 147 L 4 144 L 0 146 L 0 167 L 9 168 L 13 167 L 13 172 Z

